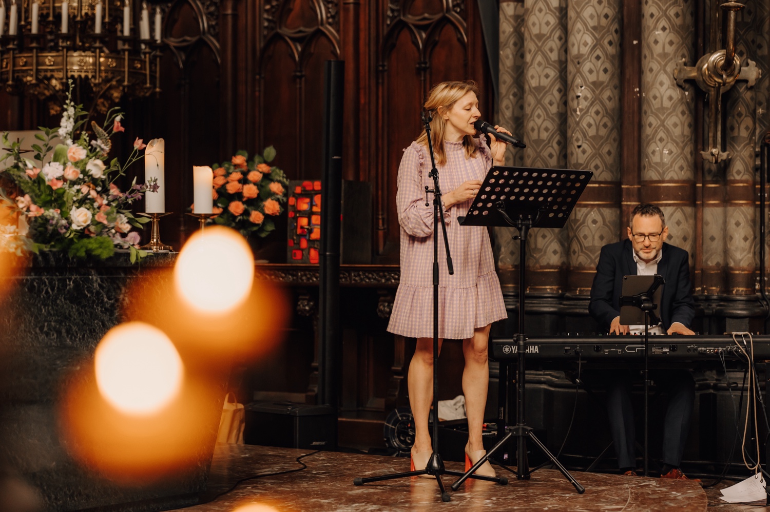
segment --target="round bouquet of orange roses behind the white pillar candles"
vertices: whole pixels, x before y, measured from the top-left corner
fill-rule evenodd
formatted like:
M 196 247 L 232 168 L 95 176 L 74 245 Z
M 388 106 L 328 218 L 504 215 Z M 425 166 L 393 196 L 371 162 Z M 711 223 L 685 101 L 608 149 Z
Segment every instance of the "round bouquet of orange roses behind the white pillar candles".
M 276 228 L 272 217 L 283 211 L 289 179 L 269 164 L 276 158 L 273 146 L 248 158 L 246 151 L 238 151 L 230 161 L 212 166 L 213 222 L 234 228 L 246 238 L 265 237 Z

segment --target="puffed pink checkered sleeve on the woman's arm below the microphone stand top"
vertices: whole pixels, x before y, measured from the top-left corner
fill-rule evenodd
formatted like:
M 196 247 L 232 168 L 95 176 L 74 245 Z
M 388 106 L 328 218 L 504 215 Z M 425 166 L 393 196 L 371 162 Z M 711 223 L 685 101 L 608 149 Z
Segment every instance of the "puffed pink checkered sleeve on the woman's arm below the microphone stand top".
M 401 165 L 398 168 L 398 190 L 396 192 L 396 208 L 398 223 L 413 237 L 428 237 L 434 232 L 433 197 L 428 194 L 428 205 L 425 206 L 425 185 L 433 188 L 427 177 L 425 151 L 417 142 L 413 142 L 403 150 Z M 452 215 L 445 209 L 444 223 L 450 224 Z

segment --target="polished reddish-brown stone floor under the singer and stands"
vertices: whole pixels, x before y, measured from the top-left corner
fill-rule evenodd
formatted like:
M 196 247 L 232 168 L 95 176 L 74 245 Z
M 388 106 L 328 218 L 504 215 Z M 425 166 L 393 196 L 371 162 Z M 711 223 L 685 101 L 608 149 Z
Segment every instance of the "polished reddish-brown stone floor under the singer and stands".
M 376 455 L 319 452 L 303 457 L 306 469 L 296 457 L 308 450 L 224 445 L 216 450 L 209 484 L 209 503 L 184 510 L 229 512 L 252 505 L 249 512 L 316 512 L 322 510 L 385 512 L 392 510 L 612 510 L 624 512 L 657 510 L 707 510 L 707 497 L 698 484 L 659 478 L 621 477 L 577 473 L 586 487 L 577 494 L 574 487 L 555 470 L 539 470 L 531 480 L 511 480 L 507 486 L 470 481 L 452 500 L 442 503 L 434 480 L 408 478 L 388 480 L 360 487 L 355 477 L 369 477 L 409 470 L 403 458 Z M 461 470 L 461 464 L 447 463 Z M 500 470 L 499 471 L 504 471 Z M 250 478 L 250 479 L 249 479 Z M 243 480 L 249 479 L 249 480 Z M 239 484 L 236 483 L 239 480 Z M 447 484 L 454 477 L 444 477 Z M 218 496 L 217 496 L 218 495 Z M 263 507 L 256 507 L 261 504 Z M 267 507 L 264 507 L 267 506 Z M 719 510 L 719 509 L 718 509 Z M 735 509 L 740 510 L 740 509 Z M 245 511 L 244 511 L 245 512 Z M 721 509 L 720 512 L 732 512 Z

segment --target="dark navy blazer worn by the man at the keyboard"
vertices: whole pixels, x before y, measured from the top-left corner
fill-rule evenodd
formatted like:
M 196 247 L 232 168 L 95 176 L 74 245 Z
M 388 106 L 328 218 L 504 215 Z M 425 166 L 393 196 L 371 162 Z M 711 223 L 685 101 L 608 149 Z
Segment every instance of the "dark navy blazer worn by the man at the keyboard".
M 620 296 L 624 275 L 636 275 L 634 248 L 626 238 L 601 248 L 596 265 L 594 284 L 591 285 L 591 302 L 588 312 L 601 328 L 609 331 L 612 320 L 621 314 Z M 695 301 L 690 294 L 689 255 L 684 249 L 663 244 L 663 256 L 658 262 L 658 274 L 663 276 L 661 322 L 664 330 L 679 322 L 690 327 L 695 318 Z

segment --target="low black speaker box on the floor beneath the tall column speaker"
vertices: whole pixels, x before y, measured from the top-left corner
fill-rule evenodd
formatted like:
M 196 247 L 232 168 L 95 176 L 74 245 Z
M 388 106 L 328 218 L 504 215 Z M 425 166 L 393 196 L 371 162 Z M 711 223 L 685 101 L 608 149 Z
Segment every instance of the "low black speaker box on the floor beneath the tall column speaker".
M 260 446 L 336 447 L 336 412 L 328 405 L 252 402 L 246 407 L 243 442 Z

